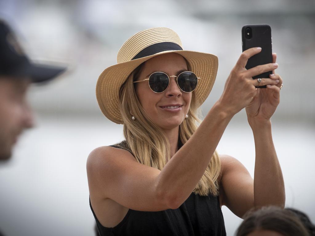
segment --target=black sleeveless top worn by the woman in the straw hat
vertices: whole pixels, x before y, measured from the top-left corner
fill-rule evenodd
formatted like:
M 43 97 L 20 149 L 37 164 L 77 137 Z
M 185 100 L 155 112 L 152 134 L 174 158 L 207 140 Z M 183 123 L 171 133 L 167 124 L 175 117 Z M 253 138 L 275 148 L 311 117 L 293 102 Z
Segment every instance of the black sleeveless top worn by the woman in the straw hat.
M 111 145 L 122 148 L 119 144 Z M 98 221 L 90 201 L 100 236 L 198 236 L 226 235 L 219 197 L 191 193 L 177 209 L 164 211 L 135 211 L 129 209 L 123 220 L 108 228 Z

